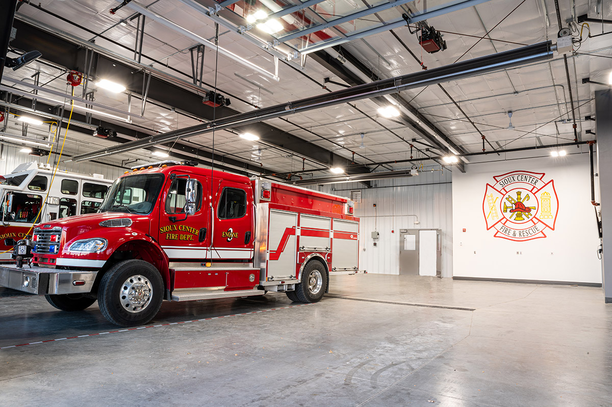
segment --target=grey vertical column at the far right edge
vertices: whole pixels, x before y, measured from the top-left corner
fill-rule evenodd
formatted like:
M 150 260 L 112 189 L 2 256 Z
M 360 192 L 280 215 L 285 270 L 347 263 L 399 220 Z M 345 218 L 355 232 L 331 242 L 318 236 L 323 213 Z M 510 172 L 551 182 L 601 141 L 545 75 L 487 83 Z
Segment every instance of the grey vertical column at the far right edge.
M 612 302 L 612 89 L 595 91 L 597 173 L 602 204 L 602 283 L 605 302 Z M 609 206 L 609 207 L 608 207 Z M 607 259 L 606 259 L 607 257 Z

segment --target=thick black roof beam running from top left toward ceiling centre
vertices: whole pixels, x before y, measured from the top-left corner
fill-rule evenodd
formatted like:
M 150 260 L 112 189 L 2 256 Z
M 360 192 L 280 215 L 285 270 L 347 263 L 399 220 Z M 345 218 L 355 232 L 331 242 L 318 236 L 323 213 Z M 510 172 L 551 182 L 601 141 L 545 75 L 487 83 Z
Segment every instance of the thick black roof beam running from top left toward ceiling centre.
M 85 50 L 80 45 L 23 21 L 15 20 L 15 26 L 18 28 L 17 39 L 14 41 L 17 47 L 41 50 L 43 52 L 42 58 L 47 61 L 67 69 L 84 71 Z M 134 94 L 143 93 L 144 72 L 129 65 L 96 53 L 92 72 L 95 73 L 97 78 L 108 78 L 124 84 L 127 90 Z M 218 89 L 218 91 L 223 93 L 222 89 Z M 212 107 L 202 103 L 201 95 L 187 91 L 155 76 L 151 78 L 147 97 L 174 106 L 204 120 L 212 120 L 213 118 Z M 234 116 L 238 113 L 240 112 L 226 106 L 218 107 L 214 112 L 216 119 Z M 233 129 L 237 132 L 256 133 L 261 140 L 267 143 L 293 151 L 299 157 L 307 157 L 329 166 L 347 162 L 347 159 L 340 155 L 263 122 L 244 126 L 236 125 Z M 354 173 L 367 173 L 369 169 L 362 165 L 354 168 L 353 171 Z

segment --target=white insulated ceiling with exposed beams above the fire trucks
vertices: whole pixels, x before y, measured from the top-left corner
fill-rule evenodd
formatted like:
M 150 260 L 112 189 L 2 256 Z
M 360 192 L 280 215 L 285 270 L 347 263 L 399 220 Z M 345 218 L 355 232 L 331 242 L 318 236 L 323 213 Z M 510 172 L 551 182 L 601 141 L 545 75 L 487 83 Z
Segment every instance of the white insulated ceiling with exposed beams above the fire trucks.
M 556 42 L 559 29 L 554 1 L 491 0 L 428 18 L 427 23 L 440 30 L 447 43 L 447 49 L 438 53 L 423 51 L 417 36 L 411 34 L 411 28 L 405 22 L 401 26 L 397 26 L 397 23 L 392 31 L 381 28 L 381 31 L 385 31 L 364 34 L 368 29 L 401 20 L 402 13 L 419 16 L 462 2 L 418 0 L 398 3 L 400 5 L 391 7 L 390 4 L 386 6 L 387 1 L 384 0 L 378 3 L 365 0 L 310 0 L 306 4 L 312 5 L 305 7 L 306 4 L 299 0 L 241 0 L 226 8 L 218 7 L 218 15 L 211 18 L 205 12 L 206 7 L 217 4 L 213 0 L 135 0 L 114 15 L 109 10 L 119 6 L 120 2 L 112 0 L 20 2 L 15 23 L 17 39 L 11 43 L 13 47 L 17 48 L 15 44 L 20 43 L 35 44 L 35 38 L 28 42 L 25 37 L 32 35 L 32 32 L 43 31 L 50 38 L 74 43 L 74 50 L 78 50 L 78 45 L 80 51 L 74 51 L 74 56 L 67 56 L 61 55 L 62 50 L 52 50 L 51 47 L 40 49 L 43 56 L 39 61 L 16 71 L 4 70 L 2 84 L 17 89 L 13 100 L 23 95 L 23 91 L 31 92 L 28 84 L 34 81 L 45 89 L 62 94 L 70 94 L 74 90 L 77 97 L 82 97 L 83 85 L 72 89 L 66 84 L 65 76 L 70 69 L 86 70 L 83 61 L 88 61 L 91 52 L 83 54 L 85 46 L 110 61 L 116 61 L 118 72 L 119 64 L 129 66 L 132 73 L 151 72 L 154 77 L 151 87 L 157 88 L 149 89 L 149 100 L 142 115 L 141 95 L 146 87 L 140 80 L 133 80 L 131 86 L 127 86 L 128 90 L 119 94 L 96 88 L 93 84 L 88 86 L 88 91 L 94 91 L 95 103 L 99 105 L 91 106 L 90 119 L 86 117 L 88 111 L 83 109 L 83 103 L 75 103 L 74 112 L 80 114 L 82 120 L 75 121 L 71 126 L 75 125 L 75 129 L 81 126 L 83 131 L 68 132 L 64 154 L 72 156 L 115 146 L 118 141 L 184 129 L 210 120 L 213 114 L 230 116 L 336 91 L 343 89 L 343 84 L 352 86 L 369 81 L 368 78 L 384 79 L 419 72 L 422 65 L 432 69 L 548 39 Z M 610 19 L 612 2 L 603 1 L 603 13 L 599 14 L 595 12 L 595 3 L 594 0 L 560 1 L 561 20 L 576 21 L 577 16 L 584 14 Z M 283 40 L 283 37 L 288 38 L 286 35 L 291 37 L 295 32 L 360 13 L 371 6 L 379 7 L 381 11 L 331 28 L 321 29 L 319 26 L 317 31 L 310 30 L 313 32 L 302 37 L 293 35 L 296 38 L 278 43 L 274 50 L 264 49 L 268 41 L 274 43 L 275 39 Z M 141 54 L 135 57 L 134 49 L 138 51 L 140 47 L 136 41 L 139 32 L 137 24 L 142 21 L 136 18 L 138 13 L 135 10 L 138 7 L 141 7 L 141 11 L 146 10 L 149 17 L 144 18 Z M 280 16 L 277 21 L 280 21 L 282 30 L 275 34 L 258 29 L 256 23 L 241 34 L 233 31 L 236 27 L 247 27 L 245 18 L 256 10 L 282 13 L 289 7 L 293 7 L 290 10 L 304 8 Z M 190 48 L 198 45 L 195 38 L 214 42 L 213 18 L 221 23 L 218 46 L 238 58 L 226 56 L 225 51 L 217 54 L 214 47 L 204 48 L 202 83 L 197 81 L 200 77 L 198 69 L 197 83 L 194 84 Z M 175 27 L 170 28 L 173 25 L 168 21 Z M 20 26 L 28 29 L 19 29 Z M 580 26 L 576 26 L 580 29 Z M 592 35 L 612 31 L 612 24 L 591 22 L 589 26 Z M 411 27 L 414 29 L 414 24 Z M 104 162 L 119 166 L 140 165 L 159 160 L 159 157 L 152 155 L 153 151 L 170 149 L 173 157 L 198 157 L 209 164 L 211 157 L 214 157 L 223 170 L 250 174 L 261 172 L 269 176 L 282 174 L 280 177 L 297 172 L 303 177 L 321 177 L 329 175 L 323 169 L 330 166 L 348 167 L 351 162 L 361 164 L 351 167 L 353 172 L 401 170 L 412 165 L 440 165 L 440 160 L 426 157 L 447 155 L 449 151 L 469 154 L 480 152 L 483 147 L 492 152 L 494 149 L 569 143 L 575 138 L 578 141 L 591 140 L 594 135 L 589 132 L 594 132 L 595 122 L 585 117 L 594 116 L 593 92 L 602 86 L 583 83 L 583 78 L 608 81 L 612 70 L 612 46 L 609 35 L 588 38 L 586 31 L 584 28 L 580 48 L 576 50 L 575 44 L 575 53 L 567 54 L 567 73 L 563 56 L 555 53 L 553 59 L 545 62 L 450 81 L 441 86 L 402 91 L 399 95 L 401 103 L 406 103 L 412 113 L 402 111 L 401 116 L 394 119 L 384 118 L 378 113 L 384 101 L 365 99 L 269 119 L 265 121 L 265 127 L 252 125 L 218 130 L 214 134 L 193 135 L 157 148 L 111 155 L 105 157 Z M 351 39 L 351 35 L 356 33 L 359 34 L 357 36 L 365 36 Z M 577 32 L 574 35 L 578 35 Z M 338 40 L 346 42 L 338 45 Z M 336 45 L 309 52 L 313 47 L 330 41 L 335 41 Z M 71 53 L 71 50 L 66 48 L 65 53 Z M 307 53 L 298 53 L 304 50 Z M 275 56 L 279 55 L 297 58 L 290 61 L 280 58 L 276 67 Z M 9 52 L 9 56 L 16 54 Z M 75 61 L 73 66 L 64 62 L 70 61 L 70 58 Z M 94 72 L 95 69 L 90 72 L 91 83 L 101 79 L 102 72 L 112 79 L 112 67 L 115 65 L 108 65 L 106 70 L 101 70 L 100 66 L 99 63 L 99 72 Z M 324 78 L 335 83 L 324 83 Z M 121 81 L 121 77 L 116 81 Z M 159 88 L 162 82 L 171 83 L 174 90 L 162 92 Z M 215 84 L 218 92 L 230 98 L 229 108 L 212 110 L 198 102 L 187 103 L 187 94 L 199 99 L 205 91 L 214 89 Z M 21 94 L 18 93 L 20 90 Z M 40 91 L 39 97 L 46 98 L 39 99 L 39 110 L 45 103 L 48 106 L 63 105 L 65 100 L 61 95 L 51 95 L 45 91 Z M 13 105 L 21 103 L 32 108 L 30 100 L 31 96 L 25 95 Z M 572 101 L 575 106 L 573 115 Z M 67 117 L 70 105 L 65 106 Z M 10 111 L 28 113 L 14 106 Z M 512 127 L 509 128 L 510 111 Z M 573 129 L 574 118 L 576 133 Z M 50 118 L 45 120 L 51 121 Z M 102 140 L 86 134 L 100 120 L 117 129 L 118 141 Z M 53 138 L 48 125 L 29 125 L 27 133 L 24 133 L 22 123 L 17 122 L 15 116 L 9 115 L 6 122 L 6 135 L 25 136 L 29 140 L 45 143 L 50 137 Z M 422 128 L 424 125 L 427 126 L 425 129 Z M 431 129 L 433 133 L 446 136 L 449 143 L 435 145 Z M 261 140 L 250 142 L 237 136 L 247 130 L 257 133 Z M 14 140 L 10 142 L 18 143 Z M 469 162 L 469 155 L 465 158 Z M 405 161 L 410 159 L 411 162 Z M 138 161 L 125 164 L 128 160 Z M 398 160 L 404 161 L 394 163 Z M 387 163 L 380 166 L 379 162 Z

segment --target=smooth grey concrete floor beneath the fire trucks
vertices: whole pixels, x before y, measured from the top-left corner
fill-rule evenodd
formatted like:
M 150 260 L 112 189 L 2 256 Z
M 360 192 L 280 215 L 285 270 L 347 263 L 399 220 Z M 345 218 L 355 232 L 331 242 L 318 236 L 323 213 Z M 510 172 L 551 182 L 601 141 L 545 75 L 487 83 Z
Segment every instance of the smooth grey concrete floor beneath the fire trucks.
M 10 294 L 0 348 L 40 343 L 0 349 L 0 406 L 612 406 L 601 288 L 343 275 L 318 304 L 165 302 L 151 325 L 177 324 L 119 332 Z

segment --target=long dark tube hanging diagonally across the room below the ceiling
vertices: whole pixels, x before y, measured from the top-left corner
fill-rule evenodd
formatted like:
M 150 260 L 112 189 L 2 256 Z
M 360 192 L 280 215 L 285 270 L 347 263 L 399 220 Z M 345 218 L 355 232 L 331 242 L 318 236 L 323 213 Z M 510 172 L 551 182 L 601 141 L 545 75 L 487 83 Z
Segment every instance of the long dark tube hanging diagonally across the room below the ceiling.
M 212 132 L 213 129 L 223 130 L 237 125 L 247 125 L 261 122 L 267 119 L 280 118 L 293 113 L 335 106 L 341 103 L 353 102 L 355 100 L 370 99 L 372 97 L 393 94 L 407 89 L 421 88 L 428 84 L 444 81 L 458 80 L 460 78 L 473 77 L 483 73 L 493 72 L 507 67 L 526 64 L 532 61 L 553 58 L 553 50 L 556 48 L 550 40 L 540 42 L 528 47 L 517 48 L 498 54 L 487 55 L 457 64 L 430 69 L 427 71 L 409 73 L 400 77 L 384 79 L 372 83 L 353 86 L 348 89 L 330 92 L 322 95 L 308 97 L 306 99 L 294 100 L 281 103 L 267 108 L 236 114 L 228 118 L 193 125 L 185 129 L 162 133 L 148 137 L 143 140 L 122 144 L 121 146 L 109 147 L 97 151 L 80 154 L 73 157 L 72 161 L 84 161 L 120 152 L 132 151 L 144 146 L 152 146 L 170 140 L 181 140 L 193 135 Z

